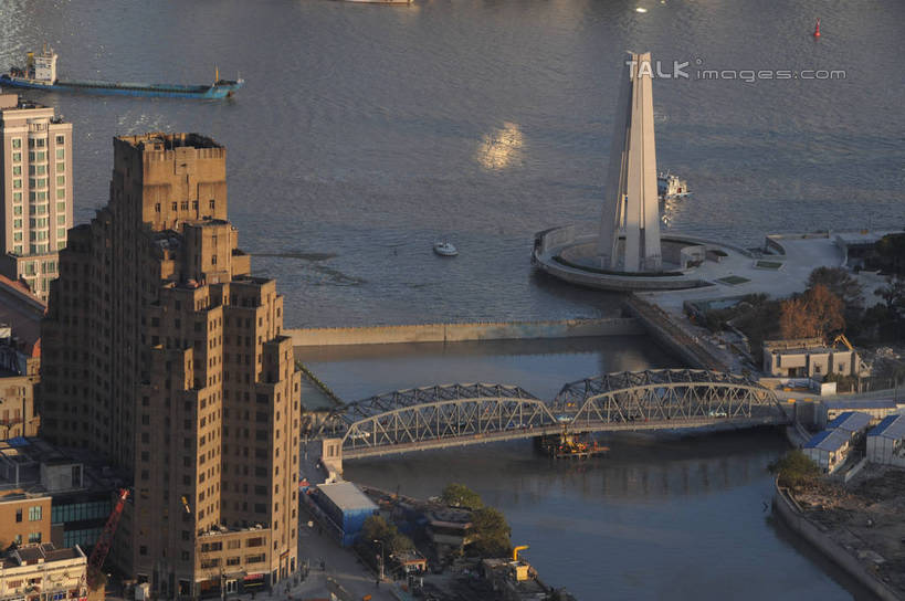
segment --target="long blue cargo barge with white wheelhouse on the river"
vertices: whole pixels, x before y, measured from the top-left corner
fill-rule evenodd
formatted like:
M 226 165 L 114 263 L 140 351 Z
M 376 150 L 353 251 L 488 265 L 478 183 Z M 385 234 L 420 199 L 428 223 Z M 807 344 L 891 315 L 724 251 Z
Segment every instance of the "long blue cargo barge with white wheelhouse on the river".
M 53 49 L 44 46 L 39 55 L 29 52 L 25 67 L 11 67 L 0 75 L 0 86 L 44 89 L 49 92 L 82 92 L 113 96 L 141 96 L 162 98 L 217 99 L 232 96 L 244 85 L 242 78 L 221 80 L 217 73 L 210 85 L 146 84 L 133 82 L 71 81 L 56 78 L 57 55 Z

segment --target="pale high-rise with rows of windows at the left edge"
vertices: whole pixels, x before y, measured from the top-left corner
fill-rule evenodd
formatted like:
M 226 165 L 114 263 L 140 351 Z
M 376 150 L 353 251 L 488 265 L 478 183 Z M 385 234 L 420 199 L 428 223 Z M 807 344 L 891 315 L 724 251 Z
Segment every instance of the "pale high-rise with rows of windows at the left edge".
M 72 124 L 0 94 L 0 274 L 48 299 L 72 225 Z

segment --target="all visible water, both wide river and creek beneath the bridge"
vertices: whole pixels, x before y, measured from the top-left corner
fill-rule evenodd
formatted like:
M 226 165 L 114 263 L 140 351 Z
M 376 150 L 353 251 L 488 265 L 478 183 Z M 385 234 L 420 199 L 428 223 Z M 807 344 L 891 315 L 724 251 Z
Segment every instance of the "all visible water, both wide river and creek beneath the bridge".
M 536 231 L 598 219 L 627 49 L 688 63 L 691 78 L 654 83 L 659 166 L 695 192 L 666 208 L 669 228 L 757 245 L 768 232 L 902 225 L 903 38 L 899 0 L 0 1 L 3 66 L 50 42 L 64 78 L 241 72 L 246 86 L 228 102 L 29 96 L 75 124 L 77 222 L 107 201 L 112 136 L 190 130 L 224 144 L 230 217 L 256 271 L 278 278 L 287 326 L 615 312 L 618 298 L 532 273 L 528 253 Z M 845 77 L 701 81 L 697 68 Z M 460 256 L 434 256 L 438 238 Z M 328 381 L 359 382 L 357 396 L 440 376 L 530 390 L 538 366 L 560 366 L 558 386 L 632 362 L 650 350 L 639 340 L 583 359 L 448 355 L 459 371 L 422 362 L 393 379 L 359 366 L 365 379 Z M 583 599 L 848 598 L 761 512 L 762 466 L 781 449 L 766 434 L 632 440 L 576 471 L 513 445 L 350 473 L 412 494 L 472 484 L 534 545 L 543 573 Z

